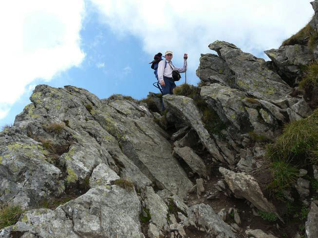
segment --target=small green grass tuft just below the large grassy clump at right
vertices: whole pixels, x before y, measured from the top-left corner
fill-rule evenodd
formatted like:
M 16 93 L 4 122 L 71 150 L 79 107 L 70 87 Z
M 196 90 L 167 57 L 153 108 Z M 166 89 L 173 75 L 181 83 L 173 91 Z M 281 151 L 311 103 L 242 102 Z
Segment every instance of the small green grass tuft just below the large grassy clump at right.
M 274 161 L 270 170 L 272 171 L 273 181 L 269 188 L 276 192 L 282 191 L 285 187 L 290 187 L 299 177 L 299 169 L 283 160 Z

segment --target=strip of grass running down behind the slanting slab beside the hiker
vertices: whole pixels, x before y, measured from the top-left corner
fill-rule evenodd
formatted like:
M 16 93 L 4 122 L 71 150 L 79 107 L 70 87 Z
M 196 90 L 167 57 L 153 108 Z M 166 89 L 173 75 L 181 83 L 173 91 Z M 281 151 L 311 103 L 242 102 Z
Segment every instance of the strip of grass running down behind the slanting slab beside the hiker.
M 224 135 L 222 130 L 226 129 L 226 125 L 219 118 L 219 115 L 214 111 L 200 96 L 200 88 L 193 85 L 182 84 L 174 88 L 173 93 L 176 95 L 186 96 L 193 99 L 196 106 L 203 114 L 202 121 L 210 135 L 216 134 L 221 138 Z

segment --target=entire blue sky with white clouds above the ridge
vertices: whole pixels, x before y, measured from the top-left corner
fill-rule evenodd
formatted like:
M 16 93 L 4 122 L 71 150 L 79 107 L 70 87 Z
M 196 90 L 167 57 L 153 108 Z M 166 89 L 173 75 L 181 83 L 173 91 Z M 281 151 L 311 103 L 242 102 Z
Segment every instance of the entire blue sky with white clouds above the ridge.
M 309 2 L 2 1 L 0 127 L 14 122 L 38 84 L 75 85 L 101 99 L 113 93 L 145 98 L 157 92 L 148 63 L 159 51 L 173 51 L 176 66 L 187 52 L 193 85 L 200 54 L 212 52 L 207 46 L 217 39 L 265 58 L 264 50 L 278 48 L 309 21 Z

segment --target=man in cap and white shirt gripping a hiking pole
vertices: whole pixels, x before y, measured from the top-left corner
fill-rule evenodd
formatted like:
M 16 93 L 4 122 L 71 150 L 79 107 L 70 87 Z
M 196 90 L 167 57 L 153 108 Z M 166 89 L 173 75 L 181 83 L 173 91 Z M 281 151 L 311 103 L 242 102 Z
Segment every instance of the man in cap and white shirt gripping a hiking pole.
M 184 54 L 183 68 L 178 68 L 172 65 L 171 59 L 173 57 L 172 51 L 166 51 L 166 60 L 161 60 L 158 64 L 158 81 L 162 87 L 162 95 L 173 94 L 173 88 L 176 87 L 172 79 L 172 71 L 176 70 L 179 73 L 186 72 L 187 70 L 187 54 Z M 167 62 L 167 63 L 166 63 Z

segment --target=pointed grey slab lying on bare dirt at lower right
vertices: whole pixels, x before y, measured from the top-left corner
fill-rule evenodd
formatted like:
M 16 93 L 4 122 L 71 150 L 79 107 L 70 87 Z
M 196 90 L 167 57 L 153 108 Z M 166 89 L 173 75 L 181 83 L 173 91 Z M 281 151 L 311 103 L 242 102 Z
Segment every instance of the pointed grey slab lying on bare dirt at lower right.
M 275 206 L 264 197 L 254 177 L 244 173 L 235 173 L 222 167 L 219 168 L 219 171 L 237 198 L 245 198 L 261 211 L 272 212 L 278 215 Z

